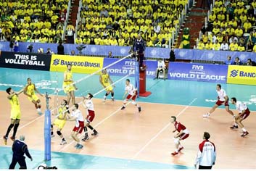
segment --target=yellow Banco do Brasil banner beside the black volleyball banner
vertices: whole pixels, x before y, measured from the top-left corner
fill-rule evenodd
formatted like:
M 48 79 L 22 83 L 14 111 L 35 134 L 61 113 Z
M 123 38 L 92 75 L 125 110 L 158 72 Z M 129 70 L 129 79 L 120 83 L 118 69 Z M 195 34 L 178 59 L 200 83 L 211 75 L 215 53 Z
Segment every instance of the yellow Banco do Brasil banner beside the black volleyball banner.
M 51 71 L 64 72 L 67 64 L 72 64 L 72 72 L 91 74 L 103 67 L 102 57 L 80 57 L 53 54 L 51 57 Z

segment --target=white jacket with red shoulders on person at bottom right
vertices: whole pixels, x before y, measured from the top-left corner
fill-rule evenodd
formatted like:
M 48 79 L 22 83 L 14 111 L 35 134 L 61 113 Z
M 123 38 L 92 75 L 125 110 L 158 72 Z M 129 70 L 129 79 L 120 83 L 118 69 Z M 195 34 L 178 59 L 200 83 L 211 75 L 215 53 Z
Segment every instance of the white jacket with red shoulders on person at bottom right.
M 214 143 L 207 140 L 202 141 L 202 143 L 199 144 L 195 164 L 199 164 L 200 166 L 212 166 L 215 160 L 216 150 Z

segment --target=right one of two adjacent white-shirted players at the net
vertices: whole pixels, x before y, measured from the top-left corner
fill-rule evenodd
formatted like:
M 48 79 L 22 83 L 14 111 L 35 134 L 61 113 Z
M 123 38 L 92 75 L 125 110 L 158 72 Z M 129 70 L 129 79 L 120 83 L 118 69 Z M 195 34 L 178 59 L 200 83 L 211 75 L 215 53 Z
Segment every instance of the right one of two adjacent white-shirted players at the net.
M 84 120 L 84 133 L 85 136 L 82 139 L 82 141 L 86 141 L 89 139 L 88 137 L 88 130 L 87 127 L 90 128 L 92 131 L 94 131 L 94 133 L 92 133 L 91 135 L 98 135 L 98 131 L 96 131 L 91 125 L 90 123 L 94 120 L 95 117 L 95 112 L 94 112 L 94 103 L 92 102 L 91 98 L 93 98 L 94 96 L 91 93 L 88 93 L 86 97 L 83 97 L 84 101 L 83 101 L 83 107 L 85 107 L 87 109 L 87 117 L 86 120 Z

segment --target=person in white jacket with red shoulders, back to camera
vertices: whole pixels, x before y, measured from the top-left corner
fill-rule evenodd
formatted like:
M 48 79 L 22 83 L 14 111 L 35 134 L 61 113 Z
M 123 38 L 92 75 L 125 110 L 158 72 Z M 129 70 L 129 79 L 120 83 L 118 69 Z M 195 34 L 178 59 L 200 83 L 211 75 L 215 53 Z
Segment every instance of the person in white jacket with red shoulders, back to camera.
M 197 153 L 197 159 L 194 167 L 197 168 L 199 164 L 199 170 L 210 170 L 212 165 L 215 164 L 216 149 L 214 143 L 209 141 L 210 133 L 205 132 L 203 135 L 204 141 L 199 144 L 199 150 Z

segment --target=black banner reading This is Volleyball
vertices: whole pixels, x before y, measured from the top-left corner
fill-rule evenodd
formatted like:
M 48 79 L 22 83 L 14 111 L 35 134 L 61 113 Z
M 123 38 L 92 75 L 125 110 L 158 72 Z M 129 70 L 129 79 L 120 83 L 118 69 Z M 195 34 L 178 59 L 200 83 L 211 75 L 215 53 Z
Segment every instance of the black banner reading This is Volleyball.
M 51 55 L 1 51 L 0 67 L 26 70 L 50 69 Z

